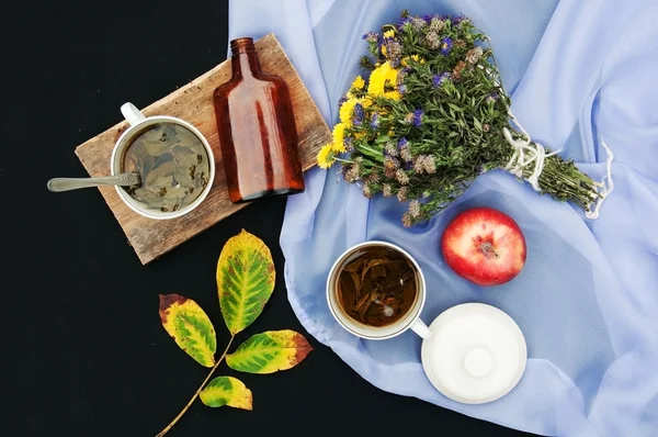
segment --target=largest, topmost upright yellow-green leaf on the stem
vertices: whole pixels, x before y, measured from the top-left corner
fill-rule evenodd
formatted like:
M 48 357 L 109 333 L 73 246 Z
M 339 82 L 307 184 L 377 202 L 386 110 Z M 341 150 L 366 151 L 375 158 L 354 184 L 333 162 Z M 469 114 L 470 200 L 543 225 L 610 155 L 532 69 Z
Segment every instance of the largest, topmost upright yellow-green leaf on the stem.
M 217 262 L 217 291 L 231 334 L 251 325 L 274 290 L 274 261 L 262 239 L 242 229 L 226 242 Z

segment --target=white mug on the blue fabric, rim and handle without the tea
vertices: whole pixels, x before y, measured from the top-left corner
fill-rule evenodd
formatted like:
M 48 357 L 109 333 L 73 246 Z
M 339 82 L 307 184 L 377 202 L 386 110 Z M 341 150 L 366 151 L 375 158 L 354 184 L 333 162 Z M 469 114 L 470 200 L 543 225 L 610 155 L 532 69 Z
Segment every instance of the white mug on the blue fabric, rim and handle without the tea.
M 413 266 L 413 273 L 416 274 L 416 300 L 413 304 L 407 311 L 400 320 L 390 325 L 385 326 L 368 326 L 355 321 L 350 317 L 340 306 L 338 302 L 338 281 L 340 280 L 340 273 L 342 269 L 349 265 L 352 260 L 359 258 L 366 249 L 372 247 L 385 247 L 402 255 Z M 412 329 L 416 334 L 426 338 L 431 335 L 428 326 L 420 320 L 420 313 L 426 301 L 426 281 L 420 270 L 420 266 L 416 260 L 402 248 L 386 242 L 365 242 L 358 244 L 345 250 L 333 264 L 329 271 L 329 278 L 327 280 L 327 302 L 329 303 L 329 310 L 333 317 L 350 333 L 370 340 L 384 340 L 387 338 L 396 337 L 407 329 Z

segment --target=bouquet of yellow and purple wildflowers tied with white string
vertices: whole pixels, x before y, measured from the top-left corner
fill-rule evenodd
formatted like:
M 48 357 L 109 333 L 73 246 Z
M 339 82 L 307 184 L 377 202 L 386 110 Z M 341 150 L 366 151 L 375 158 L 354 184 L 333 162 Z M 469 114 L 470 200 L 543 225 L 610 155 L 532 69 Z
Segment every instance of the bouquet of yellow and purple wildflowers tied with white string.
M 430 218 L 496 168 L 588 212 L 602 198 L 602 183 L 515 122 L 487 36 L 467 18 L 404 11 L 397 24 L 363 38 L 374 57 L 361 59 L 368 80 L 359 76 L 341 99 L 333 143 L 318 164 L 340 161 L 344 180 L 366 198 L 409 202 L 405 226 Z

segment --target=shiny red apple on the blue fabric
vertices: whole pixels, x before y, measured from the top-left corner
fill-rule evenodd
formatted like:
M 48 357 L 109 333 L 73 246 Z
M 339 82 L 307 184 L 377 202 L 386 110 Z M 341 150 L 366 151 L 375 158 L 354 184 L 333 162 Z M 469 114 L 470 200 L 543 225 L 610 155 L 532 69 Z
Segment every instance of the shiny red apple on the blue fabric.
M 478 285 L 499 285 L 525 265 L 525 238 L 517 222 L 491 208 L 457 215 L 441 240 L 445 262 Z

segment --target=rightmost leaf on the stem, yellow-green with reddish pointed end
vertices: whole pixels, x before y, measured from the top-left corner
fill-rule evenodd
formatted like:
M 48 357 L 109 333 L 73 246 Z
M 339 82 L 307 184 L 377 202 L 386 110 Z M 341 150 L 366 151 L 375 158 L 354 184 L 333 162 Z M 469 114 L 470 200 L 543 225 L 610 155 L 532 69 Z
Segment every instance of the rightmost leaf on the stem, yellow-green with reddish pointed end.
M 247 373 L 273 373 L 297 366 L 313 347 L 294 330 L 268 330 L 257 334 L 226 356 L 234 370 Z

